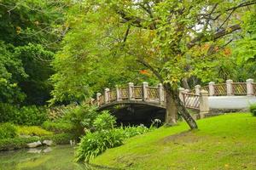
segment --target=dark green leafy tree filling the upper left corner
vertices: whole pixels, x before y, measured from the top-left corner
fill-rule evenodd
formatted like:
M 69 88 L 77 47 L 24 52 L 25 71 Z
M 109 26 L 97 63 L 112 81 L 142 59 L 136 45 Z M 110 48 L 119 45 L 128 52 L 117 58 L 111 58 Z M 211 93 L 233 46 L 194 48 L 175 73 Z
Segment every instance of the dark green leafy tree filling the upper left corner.
M 68 5 L 72 4 L 65 0 L 0 2 L 0 60 L 4 69 L 12 73 L 3 77 L 9 85 L 0 89 L 4 94 L 0 101 L 44 105 L 49 99 L 48 79 L 53 74 L 50 60 L 68 30 L 64 25 Z

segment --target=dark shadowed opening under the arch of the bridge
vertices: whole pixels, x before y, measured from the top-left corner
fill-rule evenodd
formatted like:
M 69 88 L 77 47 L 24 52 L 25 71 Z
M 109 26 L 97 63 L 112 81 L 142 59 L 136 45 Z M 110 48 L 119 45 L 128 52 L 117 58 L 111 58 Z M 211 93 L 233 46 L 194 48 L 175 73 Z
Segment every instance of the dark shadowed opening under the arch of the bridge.
M 117 118 L 118 125 L 140 125 L 149 127 L 154 119 L 165 122 L 166 109 L 154 105 L 121 104 L 108 105 L 100 108 L 108 110 Z

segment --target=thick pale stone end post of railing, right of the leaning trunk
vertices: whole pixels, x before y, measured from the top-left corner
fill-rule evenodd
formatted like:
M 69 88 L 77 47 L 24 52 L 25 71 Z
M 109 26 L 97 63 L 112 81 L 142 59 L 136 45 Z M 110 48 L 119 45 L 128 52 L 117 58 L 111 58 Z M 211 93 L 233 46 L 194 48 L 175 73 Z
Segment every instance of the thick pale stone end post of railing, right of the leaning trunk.
M 206 90 L 201 90 L 200 97 L 199 97 L 199 109 L 200 109 L 200 116 L 203 117 L 204 114 L 209 113 L 209 99 L 208 99 L 208 92 Z

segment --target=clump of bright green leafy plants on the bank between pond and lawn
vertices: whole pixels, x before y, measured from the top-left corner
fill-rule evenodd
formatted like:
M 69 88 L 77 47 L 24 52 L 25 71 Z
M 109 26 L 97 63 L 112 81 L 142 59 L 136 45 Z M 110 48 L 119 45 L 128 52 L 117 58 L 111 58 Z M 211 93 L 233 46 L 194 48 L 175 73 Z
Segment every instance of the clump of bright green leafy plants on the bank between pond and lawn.
M 95 132 L 88 131 L 79 143 L 76 150 L 76 161 L 88 162 L 105 150 L 123 144 L 125 139 L 147 133 L 154 128 L 147 128 L 143 125 L 117 128 L 115 127 L 115 117 L 108 111 L 102 111 L 102 114 L 96 116 L 93 125 Z

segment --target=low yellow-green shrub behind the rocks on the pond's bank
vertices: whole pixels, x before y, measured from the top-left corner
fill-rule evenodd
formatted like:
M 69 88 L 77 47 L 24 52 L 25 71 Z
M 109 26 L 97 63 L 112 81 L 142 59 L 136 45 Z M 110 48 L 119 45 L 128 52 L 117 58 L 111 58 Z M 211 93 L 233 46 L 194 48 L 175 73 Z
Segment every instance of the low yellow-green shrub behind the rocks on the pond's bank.
M 18 126 L 17 132 L 20 135 L 30 135 L 30 136 L 45 136 L 52 134 L 51 132 L 45 130 L 44 128 L 37 127 L 37 126 Z

